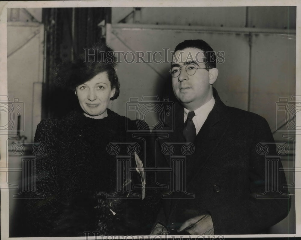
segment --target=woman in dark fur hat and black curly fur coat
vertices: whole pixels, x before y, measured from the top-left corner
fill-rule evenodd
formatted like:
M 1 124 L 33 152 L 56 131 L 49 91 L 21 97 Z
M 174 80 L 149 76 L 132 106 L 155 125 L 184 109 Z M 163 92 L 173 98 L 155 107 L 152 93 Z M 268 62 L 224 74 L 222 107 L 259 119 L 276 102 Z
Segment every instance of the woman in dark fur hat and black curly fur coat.
M 57 85 L 74 91 L 80 111 L 37 127 L 35 142 L 45 151 L 36 157 L 36 192 L 45 198 L 28 200 L 30 236 L 145 235 L 151 227 L 142 200 L 143 144 L 126 131 L 138 120 L 107 108 L 119 96 L 112 53 L 101 45 L 97 61 L 82 56 L 57 68 Z

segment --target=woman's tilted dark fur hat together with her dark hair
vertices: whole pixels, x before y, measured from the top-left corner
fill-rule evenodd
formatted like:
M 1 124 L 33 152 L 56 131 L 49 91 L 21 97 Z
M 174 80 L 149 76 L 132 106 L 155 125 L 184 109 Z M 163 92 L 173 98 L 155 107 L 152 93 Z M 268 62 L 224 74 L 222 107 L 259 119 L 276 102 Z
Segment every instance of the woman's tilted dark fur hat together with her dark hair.
M 84 54 L 76 56 L 73 61 L 62 61 L 54 70 L 54 84 L 64 89 L 75 90 L 77 86 L 87 82 L 98 73 L 106 72 L 115 88 L 110 100 L 119 96 L 119 80 L 116 74 L 116 57 L 113 49 L 104 43 L 93 48 L 84 48 Z

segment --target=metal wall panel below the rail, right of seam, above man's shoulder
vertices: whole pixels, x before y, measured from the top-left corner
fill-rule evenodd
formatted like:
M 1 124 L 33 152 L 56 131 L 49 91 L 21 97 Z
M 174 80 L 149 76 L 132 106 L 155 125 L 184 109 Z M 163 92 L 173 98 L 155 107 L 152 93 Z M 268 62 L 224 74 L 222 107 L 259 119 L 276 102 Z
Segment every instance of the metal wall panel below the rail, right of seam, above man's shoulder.
M 284 123 L 285 114 L 277 114 L 279 98 L 295 95 L 296 35 L 254 34 L 251 49 L 250 111 L 264 117 L 272 131 Z M 283 111 L 284 112 L 284 111 Z

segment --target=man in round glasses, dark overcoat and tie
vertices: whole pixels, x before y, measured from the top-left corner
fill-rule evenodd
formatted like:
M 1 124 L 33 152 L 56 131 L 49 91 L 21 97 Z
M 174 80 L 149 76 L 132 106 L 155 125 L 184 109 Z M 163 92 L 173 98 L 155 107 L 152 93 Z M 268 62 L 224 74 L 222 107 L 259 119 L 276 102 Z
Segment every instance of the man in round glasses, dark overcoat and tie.
M 167 132 L 167 138 L 158 138 L 157 161 L 172 167 L 176 165 L 172 157 L 185 155 L 180 151 L 183 148 L 176 146 L 173 152 L 166 151 L 168 144 L 193 144 L 194 151 L 185 155 L 182 168 L 173 168 L 171 175 L 165 173 L 159 180 L 169 185 L 169 193 L 162 195 L 163 207 L 152 234 L 264 233 L 290 209 L 280 160 L 276 167 L 265 167 L 267 158 L 259 151 L 260 144 L 265 144 L 266 154 L 277 156 L 268 123 L 256 114 L 222 103 L 212 86 L 218 76 L 216 56 L 203 40 L 178 44 L 170 73 L 178 102 L 174 118 L 166 114 L 165 126 L 174 124 L 174 131 Z M 277 174 L 278 181 L 266 177 L 269 171 Z M 171 186 L 176 181 L 170 179 L 177 177 L 182 191 Z

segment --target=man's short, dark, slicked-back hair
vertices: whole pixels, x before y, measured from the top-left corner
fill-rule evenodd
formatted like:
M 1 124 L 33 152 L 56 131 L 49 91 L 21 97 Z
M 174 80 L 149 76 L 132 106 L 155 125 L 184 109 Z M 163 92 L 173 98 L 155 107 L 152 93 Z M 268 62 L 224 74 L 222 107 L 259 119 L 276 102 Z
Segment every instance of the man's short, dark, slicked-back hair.
M 195 40 L 185 40 L 184 42 L 179 43 L 175 47 L 175 52 L 178 50 L 184 50 L 185 48 L 198 48 L 204 52 L 205 56 L 205 66 L 209 70 L 216 67 L 216 55 L 213 49 L 206 43 L 204 40 L 195 39 Z

